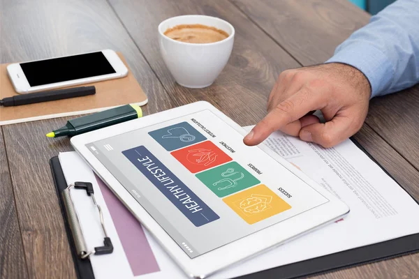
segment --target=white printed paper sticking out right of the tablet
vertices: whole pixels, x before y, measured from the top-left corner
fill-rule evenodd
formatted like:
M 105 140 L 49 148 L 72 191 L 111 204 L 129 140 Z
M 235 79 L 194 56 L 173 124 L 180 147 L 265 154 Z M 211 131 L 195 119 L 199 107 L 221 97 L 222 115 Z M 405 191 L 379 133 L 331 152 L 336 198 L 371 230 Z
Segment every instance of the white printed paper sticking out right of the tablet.
M 275 132 L 265 143 L 340 197 L 351 212 L 344 220 L 232 266 L 214 278 L 242 276 L 419 232 L 419 223 L 412 222 L 419 215 L 419 205 L 351 140 L 323 149 Z M 284 188 L 292 193 L 292 188 Z

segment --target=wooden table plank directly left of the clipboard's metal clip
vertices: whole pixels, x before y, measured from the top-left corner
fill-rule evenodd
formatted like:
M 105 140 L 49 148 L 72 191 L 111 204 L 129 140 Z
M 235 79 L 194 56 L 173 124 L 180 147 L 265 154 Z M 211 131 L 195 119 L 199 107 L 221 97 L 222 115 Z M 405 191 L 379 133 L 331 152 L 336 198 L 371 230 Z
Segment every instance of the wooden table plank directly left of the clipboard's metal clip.
M 44 139 L 45 131 L 62 125 L 62 119 L 52 119 L 3 127 L 30 278 L 75 276 L 49 165 L 71 147 L 66 137 Z

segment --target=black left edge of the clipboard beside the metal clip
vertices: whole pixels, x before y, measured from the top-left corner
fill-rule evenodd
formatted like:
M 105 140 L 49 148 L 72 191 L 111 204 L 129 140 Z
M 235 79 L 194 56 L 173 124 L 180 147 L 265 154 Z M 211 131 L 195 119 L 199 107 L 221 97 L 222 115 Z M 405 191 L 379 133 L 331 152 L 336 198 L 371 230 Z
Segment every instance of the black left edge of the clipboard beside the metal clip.
M 73 236 L 71 234 L 70 225 L 68 223 L 68 217 L 66 209 L 64 207 L 64 200 L 62 198 L 61 192 L 67 188 L 66 178 L 64 177 L 63 170 L 61 169 L 61 164 L 59 163 L 58 156 L 51 158 L 50 160 L 52 179 L 54 179 L 55 190 L 57 190 L 57 196 L 59 200 L 59 207 L 61 208 L 61 214 L 64 219 L 64 226 L 66 227 L 66 233 L 68 238 L 68 243 L 70 244 L 71 255 L 73 257 L 75 273 L 79 279 L 94 279 L 93 269 L 91 269 L 91 263 L 89 259 L 80 259 L 77 255 L 77 250 L 75 249 L 75 243 L 73 241 Z

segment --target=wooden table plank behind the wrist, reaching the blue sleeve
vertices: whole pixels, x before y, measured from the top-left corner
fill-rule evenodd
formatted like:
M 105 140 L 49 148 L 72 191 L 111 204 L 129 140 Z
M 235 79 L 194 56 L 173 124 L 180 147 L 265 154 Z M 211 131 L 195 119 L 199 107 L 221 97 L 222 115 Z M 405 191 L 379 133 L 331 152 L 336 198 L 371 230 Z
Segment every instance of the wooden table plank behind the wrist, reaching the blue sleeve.
M 232 0 L 302 66 L 323 63 L 370 15 L 347 0 Z

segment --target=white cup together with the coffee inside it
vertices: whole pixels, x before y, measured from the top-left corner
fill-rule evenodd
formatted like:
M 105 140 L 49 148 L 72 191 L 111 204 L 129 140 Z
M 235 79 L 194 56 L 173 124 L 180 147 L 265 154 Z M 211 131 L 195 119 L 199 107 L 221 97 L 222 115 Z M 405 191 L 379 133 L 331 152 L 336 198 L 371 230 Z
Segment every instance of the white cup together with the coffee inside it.
M 161 56 L 178 84 L 210 86 L 233 50 L 234 27 L 218 17 L 181 15 L 159 24 Z

